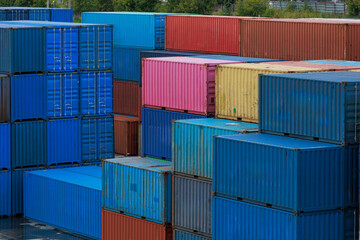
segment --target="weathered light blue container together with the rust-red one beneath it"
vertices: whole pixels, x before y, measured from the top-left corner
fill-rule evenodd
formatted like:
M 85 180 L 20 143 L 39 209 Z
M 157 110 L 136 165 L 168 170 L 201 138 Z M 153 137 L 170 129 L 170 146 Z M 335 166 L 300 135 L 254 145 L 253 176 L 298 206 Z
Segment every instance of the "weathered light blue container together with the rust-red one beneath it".
M 102 185 L 103 240 L 172 240 L 170 163 L 107 159 Z

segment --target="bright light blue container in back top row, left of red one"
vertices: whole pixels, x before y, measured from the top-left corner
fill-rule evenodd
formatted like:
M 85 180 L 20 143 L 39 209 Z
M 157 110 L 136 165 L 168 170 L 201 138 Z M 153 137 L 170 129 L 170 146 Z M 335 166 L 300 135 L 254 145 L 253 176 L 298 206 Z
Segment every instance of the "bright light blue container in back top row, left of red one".
M 112 24 L 114 46 L 164 49 L 164 13 L 145 12 L 85 12 L 83 23 Z

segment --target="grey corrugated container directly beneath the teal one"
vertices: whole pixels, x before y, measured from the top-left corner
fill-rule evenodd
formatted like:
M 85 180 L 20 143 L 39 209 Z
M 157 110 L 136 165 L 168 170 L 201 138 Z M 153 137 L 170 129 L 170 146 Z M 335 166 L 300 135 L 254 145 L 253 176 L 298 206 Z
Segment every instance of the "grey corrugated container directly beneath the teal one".
M 173 176 L 173 226 L 211 237 L 212 183 Z

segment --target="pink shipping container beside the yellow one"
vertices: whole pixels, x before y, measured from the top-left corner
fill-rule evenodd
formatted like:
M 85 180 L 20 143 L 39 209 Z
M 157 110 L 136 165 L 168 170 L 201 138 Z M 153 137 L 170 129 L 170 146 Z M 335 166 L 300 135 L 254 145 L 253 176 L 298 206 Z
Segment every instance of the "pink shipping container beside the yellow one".
M 215 114 L 215 66 L 232 61 L 190 57 L 143 60 L 143 105 L 199 115 Z

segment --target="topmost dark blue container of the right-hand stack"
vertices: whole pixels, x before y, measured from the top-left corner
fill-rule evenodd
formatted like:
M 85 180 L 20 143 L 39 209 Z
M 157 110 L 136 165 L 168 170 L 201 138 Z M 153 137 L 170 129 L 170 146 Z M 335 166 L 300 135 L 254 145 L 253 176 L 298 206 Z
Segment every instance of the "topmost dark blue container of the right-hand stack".
M 359 142 L 359 72 L 260 77 L 261 132 L 336 144 Z

